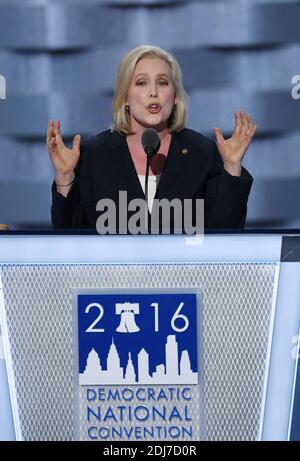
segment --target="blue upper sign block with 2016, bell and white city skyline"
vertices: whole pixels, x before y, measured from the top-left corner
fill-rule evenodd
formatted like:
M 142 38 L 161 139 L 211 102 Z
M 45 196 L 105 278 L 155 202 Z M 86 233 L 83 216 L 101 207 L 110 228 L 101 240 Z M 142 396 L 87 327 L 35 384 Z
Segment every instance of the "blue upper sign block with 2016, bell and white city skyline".
M 197 382 L 196 311 L 194 293 L 79 294 L 80 383 Z

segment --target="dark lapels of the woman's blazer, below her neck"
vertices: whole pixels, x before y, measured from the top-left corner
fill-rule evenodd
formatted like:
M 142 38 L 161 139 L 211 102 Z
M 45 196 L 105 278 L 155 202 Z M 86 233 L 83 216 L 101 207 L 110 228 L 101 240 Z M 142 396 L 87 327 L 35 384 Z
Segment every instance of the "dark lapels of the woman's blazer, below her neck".
M 165 162 L 155 198 L 160 199 L 168 197 L 169 192 L 173 189 L 175 192 L 178 177 L 182 175 L 185 169 L 188 156 L 183 155 L 182 153 L 185 148 L 182 143 L 182 134 L 183 132 L 172 134 L 167 160 Z M 137 196 L 137 198 L 144 198 L 145 195 L 130 155 L 126 136 L 119 135 L 116 132 L 110 133 L 110 140 L 107 144 L 110 147 L 115 169 L 119 178 L 122 179 L 122 183 L 127 184 L 127 190 L 131 191 Z

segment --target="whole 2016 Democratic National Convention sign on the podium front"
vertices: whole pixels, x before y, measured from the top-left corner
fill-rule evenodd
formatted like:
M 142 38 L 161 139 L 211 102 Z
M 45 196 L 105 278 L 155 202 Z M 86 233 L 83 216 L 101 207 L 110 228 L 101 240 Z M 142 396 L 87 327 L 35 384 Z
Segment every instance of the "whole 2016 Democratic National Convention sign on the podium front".
M 201 299 L 76 290 L 78 440 L 201 440 Z

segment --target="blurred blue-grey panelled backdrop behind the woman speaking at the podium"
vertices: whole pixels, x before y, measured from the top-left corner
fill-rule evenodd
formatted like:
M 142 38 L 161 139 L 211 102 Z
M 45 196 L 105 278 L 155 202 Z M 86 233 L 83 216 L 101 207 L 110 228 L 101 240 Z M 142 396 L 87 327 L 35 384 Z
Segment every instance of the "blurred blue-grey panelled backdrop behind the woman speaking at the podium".
M 182 65 L 189 127 L 228 136 L 235 110 L 253 114 L 248 226 L 300 227 L 299 23 L 299 1 L 1 1 L 0 222 L 50 226 L 48 120 L 68 142 L 107 129 L 120 58 L 154 44 Z

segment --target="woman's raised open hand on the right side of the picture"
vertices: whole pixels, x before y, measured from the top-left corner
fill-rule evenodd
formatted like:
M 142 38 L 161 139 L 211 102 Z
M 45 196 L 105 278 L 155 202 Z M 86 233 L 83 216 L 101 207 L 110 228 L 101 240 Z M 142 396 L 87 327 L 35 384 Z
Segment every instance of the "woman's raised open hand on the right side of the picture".
M 235 112 L 234 132 L 224 139 L 220 128 L 214 128 L 216 143 L 224 162 L 224 169 L 233 176 L 241 175 L 241 162 L 255 135 L 257 125 L 253 125 L 251 115 L 244 111 Z

